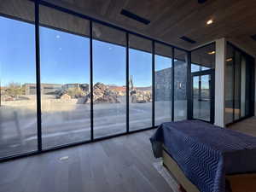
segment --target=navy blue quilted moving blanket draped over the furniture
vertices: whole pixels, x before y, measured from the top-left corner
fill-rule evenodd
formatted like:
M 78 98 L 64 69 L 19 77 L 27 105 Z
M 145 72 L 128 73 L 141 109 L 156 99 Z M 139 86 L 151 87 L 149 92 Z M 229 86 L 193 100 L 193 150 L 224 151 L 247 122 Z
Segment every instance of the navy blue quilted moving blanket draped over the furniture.
M 164 123 L 150 138 L 154 156 L 164 144 L 201 192 L 224 192 L 225 175 L 256 172 L 256 137 L 199 120 Z

